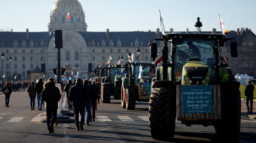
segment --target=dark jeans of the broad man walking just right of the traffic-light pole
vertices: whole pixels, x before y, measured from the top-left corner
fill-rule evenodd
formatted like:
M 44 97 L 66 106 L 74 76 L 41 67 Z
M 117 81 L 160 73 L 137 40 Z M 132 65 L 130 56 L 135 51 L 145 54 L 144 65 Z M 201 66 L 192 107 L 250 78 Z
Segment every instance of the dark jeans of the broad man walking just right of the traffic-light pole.
M 84 124 L 84 104 L 78 104 L 78 103 L 73 104 L 73 110 L 75 113 L 75 124 L 76 124 L 76 127 L 79 128 L 79 112 L 81 115 L 80 124 L 81 125 Z

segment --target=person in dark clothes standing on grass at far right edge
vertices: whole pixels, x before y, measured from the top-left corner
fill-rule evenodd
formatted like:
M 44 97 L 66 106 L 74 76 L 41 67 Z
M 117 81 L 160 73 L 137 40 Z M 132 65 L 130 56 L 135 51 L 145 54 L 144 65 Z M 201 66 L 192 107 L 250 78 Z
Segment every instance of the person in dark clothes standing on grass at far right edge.
M 251 84 L 251 81 L 248 82 L 249 84 L 246 85 L 244 89 L 244 94 L 246 96 L 246 106 L 247 106 L 247 113 L 250 112 L 252 114 L 252 105 L 253 105 L 253 91 L 254 91 L 254 85 Z M 250 101 L 250 107 L 249 107 L 249 101 Z

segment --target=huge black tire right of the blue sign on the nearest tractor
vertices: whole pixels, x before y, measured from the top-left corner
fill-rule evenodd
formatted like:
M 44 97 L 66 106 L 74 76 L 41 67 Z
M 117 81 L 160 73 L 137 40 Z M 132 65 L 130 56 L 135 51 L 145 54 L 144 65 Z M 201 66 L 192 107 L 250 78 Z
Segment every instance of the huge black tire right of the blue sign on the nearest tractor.
M 215 131 L 227 139 L 240 137 L 241 95 L 237 89 L 221 90 L 221 120 L 214 125 Z

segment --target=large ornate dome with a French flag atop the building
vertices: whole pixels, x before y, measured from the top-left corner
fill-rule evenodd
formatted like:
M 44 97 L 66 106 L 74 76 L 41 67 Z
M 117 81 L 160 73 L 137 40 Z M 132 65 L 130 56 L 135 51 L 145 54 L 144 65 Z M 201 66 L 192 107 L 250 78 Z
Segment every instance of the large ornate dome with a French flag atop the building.
M 70 14 L 71 18 L 67 17 Z M 77 0 L 58 0 L 54 3 L 48 25 L 49 32 L 55 30 L 87 31 L 84 12 Z

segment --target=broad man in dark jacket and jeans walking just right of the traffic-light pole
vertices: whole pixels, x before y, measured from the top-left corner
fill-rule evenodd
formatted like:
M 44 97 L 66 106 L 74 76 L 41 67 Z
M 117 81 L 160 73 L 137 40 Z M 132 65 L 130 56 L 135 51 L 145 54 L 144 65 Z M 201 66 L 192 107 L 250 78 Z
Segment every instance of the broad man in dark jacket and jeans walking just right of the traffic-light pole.
M 86 87 L 83 87 L 81 84 L 81 79 L 77 78 L 76 83 L 73 87 L 71 87 L 69 92 L 69 98 L 73 102 L 73 109 L 75 113 L 75 124 L 76 130 L 79 131 L 80 129 L 83 130 L 84 125 L 84 108 L 85 108 L 85 101 L 88 98 L 88 93 Z M 79 112 L 81 115 L 81 121 L 79 125 Z

